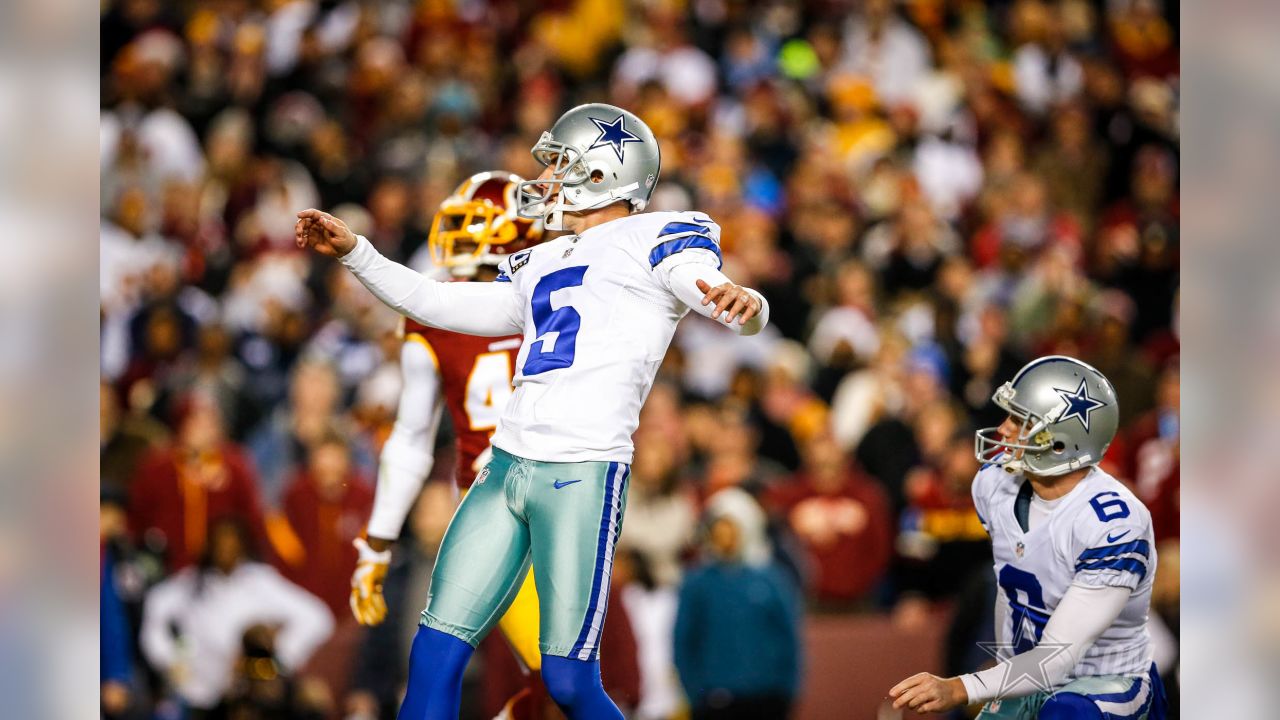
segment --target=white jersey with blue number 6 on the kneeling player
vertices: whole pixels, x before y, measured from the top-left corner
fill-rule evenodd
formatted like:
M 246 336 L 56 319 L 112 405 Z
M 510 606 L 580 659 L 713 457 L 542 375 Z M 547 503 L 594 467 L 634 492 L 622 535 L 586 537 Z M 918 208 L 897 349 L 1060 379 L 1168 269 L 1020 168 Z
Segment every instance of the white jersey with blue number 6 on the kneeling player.
M 1071 584 L 1125 587 L 1129 602 L 1069 679 L 1146 675 L 1151 667 L 1147 614 L 1156 577 L 1151 512 L 1124 484 L 1093 468 L 1046 520 L 1024 533 L 1014 510 L 1024 482 L 1020 474 L 995 465 L 983 466 L 973 482 L 1000 585 L 1001 656 L 1025 652 L 1039 642 Z

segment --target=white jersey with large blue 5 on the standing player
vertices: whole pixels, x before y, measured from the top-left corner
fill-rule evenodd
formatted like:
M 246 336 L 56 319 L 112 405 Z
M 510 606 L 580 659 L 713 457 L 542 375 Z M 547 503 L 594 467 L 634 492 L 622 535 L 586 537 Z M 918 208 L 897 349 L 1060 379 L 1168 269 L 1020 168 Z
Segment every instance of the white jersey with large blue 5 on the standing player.
M 494 447 L 549 462 L 631 462 L 631 434 L 676 324 L 689 311 L 672 268 L 721 265 L 701 213 L 641 213 L 503 260 L 525 299 L 515 395 Z

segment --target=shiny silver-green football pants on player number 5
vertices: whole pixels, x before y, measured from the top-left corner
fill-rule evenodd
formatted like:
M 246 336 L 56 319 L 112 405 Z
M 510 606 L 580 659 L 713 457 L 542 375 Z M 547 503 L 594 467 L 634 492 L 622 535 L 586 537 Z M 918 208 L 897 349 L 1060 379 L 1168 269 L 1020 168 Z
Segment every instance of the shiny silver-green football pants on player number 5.
M 422 624 L 475 646 L 529 564 L 544 655 L 595 660 L 630 466 L 539 462 L 493 448 L 440 543 Z

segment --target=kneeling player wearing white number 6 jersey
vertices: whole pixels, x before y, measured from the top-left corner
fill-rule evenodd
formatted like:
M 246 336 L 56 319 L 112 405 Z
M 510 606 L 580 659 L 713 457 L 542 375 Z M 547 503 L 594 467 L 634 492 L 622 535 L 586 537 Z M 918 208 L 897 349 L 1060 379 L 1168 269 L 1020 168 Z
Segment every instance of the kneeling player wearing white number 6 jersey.
M 986 702 L 984 720 L 1162 719 L 1147 614 L 1156 548 L 1151 514 L 1101 470 L 1119 423 L 1096 369 L 1041 357 L 996 391 L 1009 413 L 978 430 L 973 482 L 991 536 L 996 580 L 993 667 L 913 675 L 895 707 L 943 712 Z

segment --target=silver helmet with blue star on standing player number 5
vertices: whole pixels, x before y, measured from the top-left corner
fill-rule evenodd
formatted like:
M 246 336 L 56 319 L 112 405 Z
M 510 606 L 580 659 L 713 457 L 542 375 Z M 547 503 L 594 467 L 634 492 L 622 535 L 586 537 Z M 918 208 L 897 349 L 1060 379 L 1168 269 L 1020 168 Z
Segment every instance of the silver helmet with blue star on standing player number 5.
M 538 138 L 534 159 L 552 177 L 520 183 L 517 213 L 562 231 L 564 213 L 625 200 L 644 210 L 658 184 L 662 154 L 649 126 L 635 114 L 591 102 L 561 115 Z

